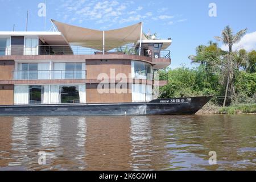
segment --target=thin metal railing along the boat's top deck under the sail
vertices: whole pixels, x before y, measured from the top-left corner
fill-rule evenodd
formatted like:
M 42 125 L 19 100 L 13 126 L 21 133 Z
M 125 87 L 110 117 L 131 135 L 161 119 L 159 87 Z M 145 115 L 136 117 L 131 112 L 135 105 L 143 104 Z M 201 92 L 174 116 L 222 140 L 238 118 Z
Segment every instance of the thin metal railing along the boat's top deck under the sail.
M 99 51 L 99 50 L 105 50 Z M 36 47 L 5 47 L 0 48 L 0 56 L 10 55 L 108 55 L 108 54 L 125 54 L 139 55 L 139 47 L 137 46 L 36 46 Z M 160 57 L 170 59 L 170 51 L 160 51 Z M 147 51 L 141 51 L 141 56 L 151 57 Z

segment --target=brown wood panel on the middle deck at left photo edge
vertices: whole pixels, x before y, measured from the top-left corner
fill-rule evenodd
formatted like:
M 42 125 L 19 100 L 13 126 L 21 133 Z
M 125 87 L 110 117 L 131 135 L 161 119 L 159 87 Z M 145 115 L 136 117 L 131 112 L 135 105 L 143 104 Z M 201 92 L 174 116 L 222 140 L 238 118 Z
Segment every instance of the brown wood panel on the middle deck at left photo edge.
M 14 71 L 13 60 L 0 61 L 0 80 L 12 80 Z

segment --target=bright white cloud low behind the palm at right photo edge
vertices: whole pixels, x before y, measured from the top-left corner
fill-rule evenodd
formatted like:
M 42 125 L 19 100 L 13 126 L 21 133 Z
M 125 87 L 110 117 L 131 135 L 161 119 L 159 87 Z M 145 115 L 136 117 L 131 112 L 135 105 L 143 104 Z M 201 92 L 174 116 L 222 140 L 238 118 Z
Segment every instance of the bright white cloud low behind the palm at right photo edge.
M 228 46 L 222 45 L 221 49 L 224 51 L 228 51 Z M 239 43 L 234 44 L 233 48 L 234 51 L 239 49 L 245 49 L 246 51 L 256 50 L 256 31 L 251 32 L 243 36 Z

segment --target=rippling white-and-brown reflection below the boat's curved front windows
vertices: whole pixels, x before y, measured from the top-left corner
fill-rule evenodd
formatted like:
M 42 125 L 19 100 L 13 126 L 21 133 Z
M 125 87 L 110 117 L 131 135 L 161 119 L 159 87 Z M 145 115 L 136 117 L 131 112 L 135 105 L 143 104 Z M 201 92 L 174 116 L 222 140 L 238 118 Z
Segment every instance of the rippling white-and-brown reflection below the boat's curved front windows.
M 159 125 L 159 118 L 131 117 L 131 167 L 134 170 L 163 170 L 168 168 L 166 142 L 163 140 L 164 124 Z

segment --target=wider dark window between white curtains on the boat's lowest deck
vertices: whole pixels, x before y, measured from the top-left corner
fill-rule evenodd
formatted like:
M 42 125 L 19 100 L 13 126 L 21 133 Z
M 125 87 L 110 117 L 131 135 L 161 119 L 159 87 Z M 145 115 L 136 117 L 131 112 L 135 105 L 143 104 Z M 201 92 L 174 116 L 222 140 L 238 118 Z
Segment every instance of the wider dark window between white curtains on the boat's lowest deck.
M 61 103 L 80 103 L 79 86 L 61 86 Z

